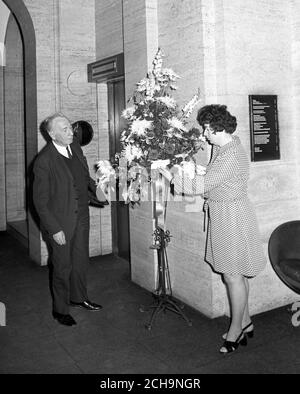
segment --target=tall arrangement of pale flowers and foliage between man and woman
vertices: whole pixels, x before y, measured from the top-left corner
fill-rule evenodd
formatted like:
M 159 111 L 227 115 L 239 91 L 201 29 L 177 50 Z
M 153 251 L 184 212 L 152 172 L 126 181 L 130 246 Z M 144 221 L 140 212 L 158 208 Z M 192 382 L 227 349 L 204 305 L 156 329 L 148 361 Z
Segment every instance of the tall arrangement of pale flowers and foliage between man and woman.
M 107 161 L 97 164 L 98 185 L 103 187 L 103 182 L 118 178 L 126 203 L 140 200 L 145 184 L 155 178 L 155 168 L 184 167 L 203 147 L 201 131 L 188 128 L 188 119 L 199 103 L 199 95 L 195 94 L 180 110 L 172 97 L 178 78 L 172 69 L 163 68 L 163 54 L 159 49 L 152 70 L 137 83 L 128 100 L 132 105 L 122 113 L 127 126 L 121 134 L 122 151 L 116 155 L 116 163 L 110 168 Z

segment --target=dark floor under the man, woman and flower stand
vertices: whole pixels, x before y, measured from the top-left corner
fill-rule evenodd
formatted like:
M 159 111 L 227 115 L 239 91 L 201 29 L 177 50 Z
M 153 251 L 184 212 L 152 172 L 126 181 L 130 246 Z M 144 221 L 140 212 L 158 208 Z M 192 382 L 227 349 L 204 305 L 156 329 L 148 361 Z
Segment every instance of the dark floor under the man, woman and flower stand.
M 123 261 L 92 258 L 89 293 L 104 309 L 74 309 L 76 326 L 58 324 L 51 316 L 47 267 L 36 266 L 26 249 L 0 233 L 0 301 L 7 310 L 0 373 L 300 373 L 300 326 L 292 325 L 288 306 L 256 315 L 248 346 L 223 356 L 218 349 L 226 317 L 211 320 L 186 307 L 192 327 L 167 312 L 146 330 L 150 315 L 139 306 L 151 303 L 151 294 L 130 281 Z

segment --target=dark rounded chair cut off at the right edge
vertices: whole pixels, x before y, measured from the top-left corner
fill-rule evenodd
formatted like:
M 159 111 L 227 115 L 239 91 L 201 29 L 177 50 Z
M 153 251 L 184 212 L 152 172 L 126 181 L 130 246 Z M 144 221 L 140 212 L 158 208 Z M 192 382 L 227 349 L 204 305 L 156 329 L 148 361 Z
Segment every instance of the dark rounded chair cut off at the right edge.
M 269 258 L 279 278 L 300 294 L 300 220 L 283 223 L 272 232 Z

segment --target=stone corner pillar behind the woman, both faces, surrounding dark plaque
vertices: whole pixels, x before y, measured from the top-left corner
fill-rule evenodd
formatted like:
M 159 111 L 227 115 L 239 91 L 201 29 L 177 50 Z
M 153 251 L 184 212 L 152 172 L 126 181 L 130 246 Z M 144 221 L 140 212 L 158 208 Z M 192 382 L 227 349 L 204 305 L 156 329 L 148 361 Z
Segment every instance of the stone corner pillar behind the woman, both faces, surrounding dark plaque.
M 280 1 L 184 3 L 170 0 L 159 3 L 158 8 L 159 44 L 167 52 L 166 60 L 185 77 L 180 82 L 181 97 L 187 99 L 190 86 L 199 86 L 203 105 L 226 104 L 237 116 L 237 133 L 249 159 L 248 95 L 278 95 L 281 160 L 251 163 L 249 183 L 268 260 L 271 232 L 280 223 L 297 219 L 300 213 L 299 178 L 295 177 L 299 137 L 293 123 L 291 3 L 288 7 Z M 202 155 L 199 162 L 203 161 Z M 183 207 L 171 212 L 169 227 L 175 242 L 169 247 L 170 260 L 180 256 L 174 264 L 175 293 L 212 317 L 228 314 L 225 287 L 203 262 L 202 213 L 185 213 Z M 176 229 L 179 212 L 181 230 Z M 278 279 L 269 261 L 250 286 L 252 313 L 297 298 Z

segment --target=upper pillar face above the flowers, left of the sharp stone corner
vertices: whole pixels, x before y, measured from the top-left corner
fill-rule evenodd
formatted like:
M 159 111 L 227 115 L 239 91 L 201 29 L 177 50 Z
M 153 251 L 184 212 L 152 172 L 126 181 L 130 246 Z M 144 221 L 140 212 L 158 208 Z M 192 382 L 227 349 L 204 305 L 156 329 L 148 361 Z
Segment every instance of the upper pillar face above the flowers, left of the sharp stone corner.
M 158 1 L 157 12 L 158 44 L 165 53 L 165 67 L 181 76 L 174 97 L 183 105 L 198 89 L 204 95 L 201 1 Z

